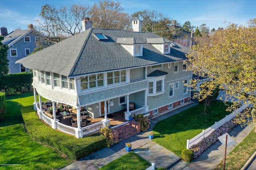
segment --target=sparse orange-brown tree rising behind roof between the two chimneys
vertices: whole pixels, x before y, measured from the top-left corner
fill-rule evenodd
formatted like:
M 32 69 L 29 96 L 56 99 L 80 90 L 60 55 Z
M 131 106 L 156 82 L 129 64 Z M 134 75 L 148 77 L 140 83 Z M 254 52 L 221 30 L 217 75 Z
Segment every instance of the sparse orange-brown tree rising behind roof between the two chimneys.
M 123 11 L 119 2 L 100 0 L 92 6 L 89 14 L 93 27 L 131 30 L 130 16 Z

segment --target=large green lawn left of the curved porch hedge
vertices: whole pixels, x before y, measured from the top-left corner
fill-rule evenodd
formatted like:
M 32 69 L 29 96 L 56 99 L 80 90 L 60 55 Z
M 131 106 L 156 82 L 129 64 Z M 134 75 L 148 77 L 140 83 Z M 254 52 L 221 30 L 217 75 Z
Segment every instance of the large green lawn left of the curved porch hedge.
M 2 170 L 60 169 L 72 160 L 56 150 L 40 145 L 24 129 L 20 109 L 33 108 L 33 93 L 7 96 L 7 113 L 0 122 L 0 163 L 16 164 L 0 166 Z

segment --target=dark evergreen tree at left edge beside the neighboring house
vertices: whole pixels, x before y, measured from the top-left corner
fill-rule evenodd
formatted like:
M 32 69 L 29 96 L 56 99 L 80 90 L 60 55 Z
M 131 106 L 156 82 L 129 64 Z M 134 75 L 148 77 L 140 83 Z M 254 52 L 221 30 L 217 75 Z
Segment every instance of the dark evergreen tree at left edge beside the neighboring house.
M 0 36 L 0 77 L 8 74 L 9 72 L 9 60 L 7 59 L 9 47 L 8 45 L 2 43 L 3 39 L 4 37 Z

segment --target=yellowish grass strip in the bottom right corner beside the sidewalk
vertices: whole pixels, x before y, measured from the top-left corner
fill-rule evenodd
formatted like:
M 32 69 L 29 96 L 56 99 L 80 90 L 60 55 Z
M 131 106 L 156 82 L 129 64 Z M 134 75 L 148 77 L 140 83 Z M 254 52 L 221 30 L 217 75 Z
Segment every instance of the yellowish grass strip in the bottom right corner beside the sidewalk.
M 239 143 L 227 156 L 226 156 L 226 170 L 240 170 L 250 156 L 255 152 L 256 148 L 256 133 L 255 129 L 248 134 L 244 140 Z M 222 160 L 214 170 L 222 170 L 224 166 Z

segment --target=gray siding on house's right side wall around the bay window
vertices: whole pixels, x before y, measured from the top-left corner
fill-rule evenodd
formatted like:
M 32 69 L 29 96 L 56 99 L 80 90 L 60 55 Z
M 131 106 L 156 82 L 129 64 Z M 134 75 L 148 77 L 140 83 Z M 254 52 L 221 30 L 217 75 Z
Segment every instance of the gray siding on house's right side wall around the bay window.
M 188 98 L 190 96 L 190 92 L 188 91 L 187 94 L 183 94 L 183 86 L 184 81 L 191 79 L 191 72 L 189 71 L 182 71 L 182 62 L 178 62 L 178 72 L 174 73 L 174 63 L 171 63 L 171 67 L 168 68 L 168 64 L 164 64 L 162 69 L 159 69 L 164 72 L 168 72 L 165 78 L 165 92 L 163 94 L 159 94 L 156 96 L 148 96 L 147 104 L 149 106 L 149 110 L 157 109 L 162 106 L 166 106 L 173 102 L 177 102 L 184 98 Z M 151 67 L 148 67 L 148 74 L 153 72 Z M 179 82 L 179 88 L 175 88 L 175 83 Z M 174 83 L 174 96 L 169 98 L 169 84 Z

